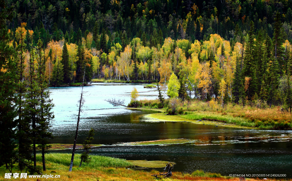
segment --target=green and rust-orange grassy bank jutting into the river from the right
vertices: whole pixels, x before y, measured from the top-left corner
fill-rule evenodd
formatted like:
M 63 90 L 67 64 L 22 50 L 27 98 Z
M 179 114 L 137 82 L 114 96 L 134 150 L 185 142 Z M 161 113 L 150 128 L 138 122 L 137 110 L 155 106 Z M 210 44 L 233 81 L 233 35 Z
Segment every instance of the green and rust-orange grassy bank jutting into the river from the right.
M 159 100 L 141 100 L 136 103 L 140 108 L 162 108 Z M 226 123 L 229 126 L 237 125 L 257 129 L 292 130 L 292 114 L 282 112 L 281 107 L 257 108 L 246 105 L 227 104 L 224 108 L 214 101 L 172 101 L 166 99 L 164 102 L 164 115 L 155 114 L 150 117 L 155 119 L 169 120 L 165 114 L 174 114 L 176 121 L 208 120 Z M 159 118 L 160 117 L 160 118 Z M 212 124 L 212 122 L 209 122 Z M 215 123 L 214 123 L 215 124 Z

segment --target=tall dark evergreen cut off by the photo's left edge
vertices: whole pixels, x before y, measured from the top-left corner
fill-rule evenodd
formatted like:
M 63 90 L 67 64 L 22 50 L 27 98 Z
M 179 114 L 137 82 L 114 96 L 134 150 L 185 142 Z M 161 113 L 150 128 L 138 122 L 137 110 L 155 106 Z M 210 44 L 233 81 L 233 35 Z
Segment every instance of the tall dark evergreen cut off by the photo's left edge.
M 6 19 L 12 8 L 7 8 L 4 0 L 0 0 L 0 165 L 6 164 L 6 169 L 12 173 L 16 157 L 16 130 L 15 120 L 17 110 L 14 102 L 17 101 L 16 90 L 16 61 L 15 50 L 9 46 L 9 34 Z M 5 7 L 6 6 L 6 7 Z M 11 19 L 10 19 L 11 20 Z M 6 71 L 2 71 L 6 70 Z

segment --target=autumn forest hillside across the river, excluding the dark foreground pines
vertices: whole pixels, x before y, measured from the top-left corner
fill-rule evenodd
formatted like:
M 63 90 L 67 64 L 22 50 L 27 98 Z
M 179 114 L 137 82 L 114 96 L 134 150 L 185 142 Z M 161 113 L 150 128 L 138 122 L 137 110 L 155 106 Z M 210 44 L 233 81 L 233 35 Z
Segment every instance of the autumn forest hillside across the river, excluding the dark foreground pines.
M 41 40 L 49 86 L 81 83 L 83 67 L 87 82 L 166 85 L 174 73 L 182 99 L 291 108 L 291 1 L 5 3 L 7 42 L 23 58 L 24 78 Z

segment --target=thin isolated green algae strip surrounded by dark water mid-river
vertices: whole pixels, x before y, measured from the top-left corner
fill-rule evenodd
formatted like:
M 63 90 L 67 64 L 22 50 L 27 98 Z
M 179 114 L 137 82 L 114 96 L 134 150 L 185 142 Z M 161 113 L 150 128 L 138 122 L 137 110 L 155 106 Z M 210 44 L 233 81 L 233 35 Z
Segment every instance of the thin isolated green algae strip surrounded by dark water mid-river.
M 154 141 L 140 141 L 131 142 L 131 145 L 160 145 L 160 144 L 183 144 L 183 143 L 193 143 L 195 140 L 190 139 L 160 139 Z

